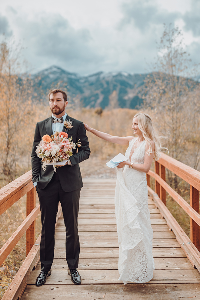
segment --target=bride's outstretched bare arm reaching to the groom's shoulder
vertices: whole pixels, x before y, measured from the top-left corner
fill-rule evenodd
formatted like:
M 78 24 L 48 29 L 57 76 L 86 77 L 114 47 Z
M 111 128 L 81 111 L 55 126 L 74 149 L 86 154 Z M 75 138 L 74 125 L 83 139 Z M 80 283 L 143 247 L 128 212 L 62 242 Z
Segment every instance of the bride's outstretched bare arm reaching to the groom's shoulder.
M 132 140 L 132 136 L 125 136 L 125 137 L 120 137 L 120 136 L 114 136 L 110 135 L 105 132 L 98 131 L 94 128 L 91 128 L 87 124 L 84 123 L 85 129 L 89 132 L 92 132 L 94 135 L 98 136 L 99 138 L 102 138 L 108 142 L 119 144 L 119 145 L 128 145 L 130 140 Z

